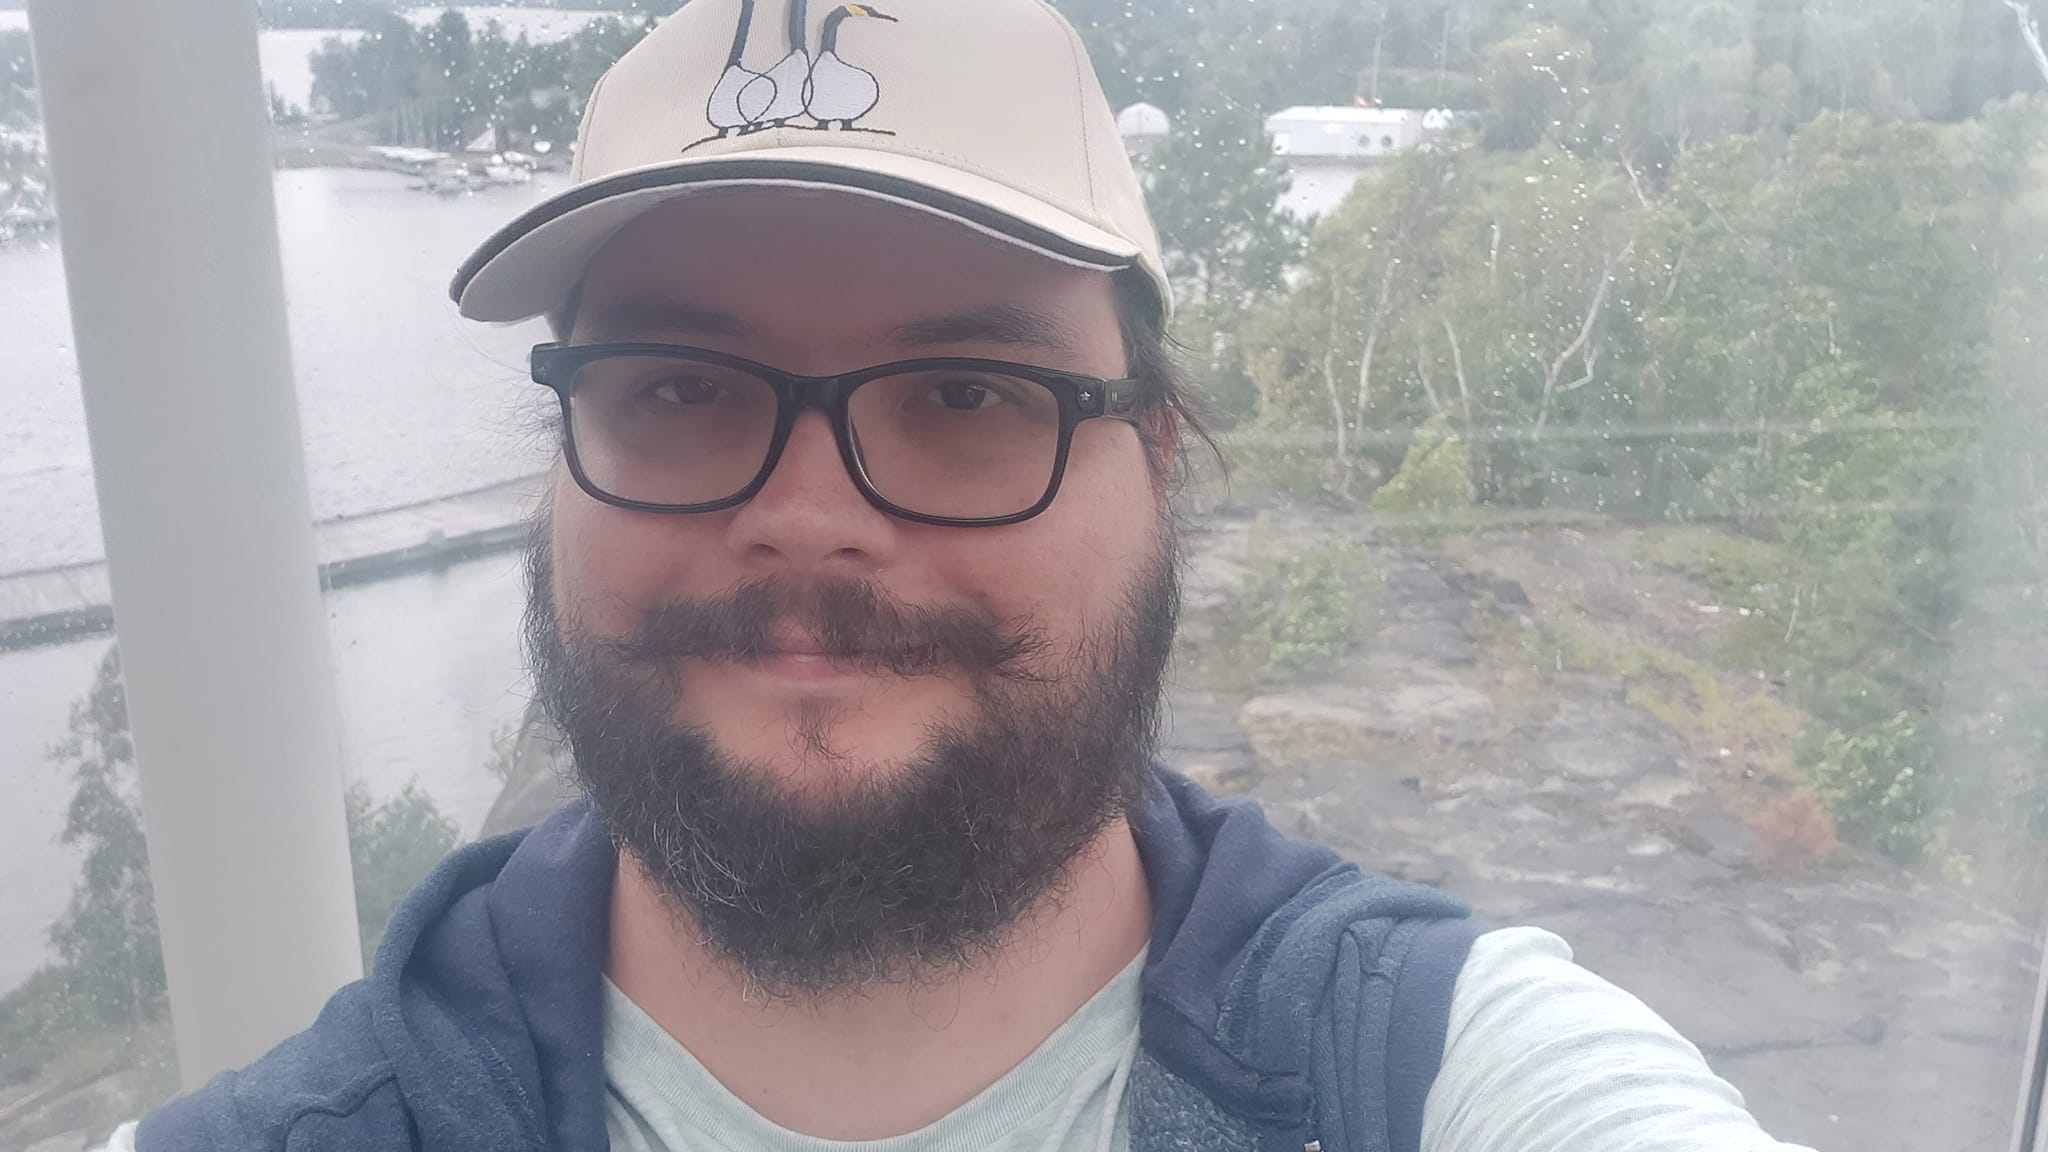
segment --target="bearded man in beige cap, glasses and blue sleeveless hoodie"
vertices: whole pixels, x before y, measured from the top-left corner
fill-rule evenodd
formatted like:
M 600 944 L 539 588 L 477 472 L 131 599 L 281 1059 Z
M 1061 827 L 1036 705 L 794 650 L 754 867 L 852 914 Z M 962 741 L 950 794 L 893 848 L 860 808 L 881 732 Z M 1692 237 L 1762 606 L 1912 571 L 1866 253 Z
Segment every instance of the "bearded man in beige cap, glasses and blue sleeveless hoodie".
M 1151 767 L 1196 428 L 1085 55 L 788 2 L 651 33 L 455 279 L 559 340 L 528 644 L 586 799 L 121 1142 L 1778 1148 L 1554 937 Z

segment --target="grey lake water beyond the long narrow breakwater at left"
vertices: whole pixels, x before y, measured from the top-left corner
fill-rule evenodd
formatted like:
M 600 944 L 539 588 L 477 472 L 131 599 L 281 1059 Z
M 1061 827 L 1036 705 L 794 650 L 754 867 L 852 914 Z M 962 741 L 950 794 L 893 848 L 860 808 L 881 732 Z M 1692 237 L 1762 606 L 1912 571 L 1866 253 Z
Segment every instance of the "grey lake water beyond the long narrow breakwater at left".
M 559 178 L 557 178 L 559 180 Z M 457 262 L 559 184 L 440 199 L 391 172 L 276 174 L 305 463 L 319 519 L 526 476 L 545 392 L 526 379 L 539 324 L 469 324 Z M 102 556 L 63 260 L 0 246 L 0 572 Z

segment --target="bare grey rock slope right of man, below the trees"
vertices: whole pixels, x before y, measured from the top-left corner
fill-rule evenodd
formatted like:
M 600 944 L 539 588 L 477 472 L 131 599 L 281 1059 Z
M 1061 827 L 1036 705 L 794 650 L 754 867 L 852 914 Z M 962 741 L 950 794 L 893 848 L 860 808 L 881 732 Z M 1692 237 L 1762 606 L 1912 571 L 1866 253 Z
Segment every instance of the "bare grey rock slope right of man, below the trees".
M 1569 562 L 1583 570 L 1573 596 L 1634 611 L 1630 568 L 1563 535 L 1489 547 L 1528 551 L 1528 568 Z M 1620 674 L 1544 666 L 1530 681 L 1489 650 L 1489 621 L 1522 627 L 1548 586 L 1532 596 L 1438 551 L 1376 558 L 1389 578 L 1352 660 L 1235 709 L 1184 695 L 1200 705 L 1174 713 L 1204 740 L 1243 728 L 1249 795 L 1278 828 L 1444 888 L 1493 924 L 1559 933 L 1698 1043 L 1778 1140 L 2005 1150 L 2036 929 L 1853 849 L 1780 863 L 1745 797 L 1788 783 L 1702 754 L 1632 705 Z

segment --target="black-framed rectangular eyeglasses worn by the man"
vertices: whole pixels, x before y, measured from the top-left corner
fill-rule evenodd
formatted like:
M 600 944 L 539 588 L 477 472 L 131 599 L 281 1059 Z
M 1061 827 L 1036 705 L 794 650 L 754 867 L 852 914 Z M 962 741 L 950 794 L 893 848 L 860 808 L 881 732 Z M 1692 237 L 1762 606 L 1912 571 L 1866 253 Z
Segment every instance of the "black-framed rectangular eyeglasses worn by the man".
M 928 525 L 1014 525 L 1059 494 L 1081 420 L 1133 420 L 1139 387 L 1067 371 L 932 357 L 793 375 L 684 344 L 537 344 L 561 400 L 569 474 L 643 512 L 715 512 L 768 482 L 805 408 L 877 508 Z

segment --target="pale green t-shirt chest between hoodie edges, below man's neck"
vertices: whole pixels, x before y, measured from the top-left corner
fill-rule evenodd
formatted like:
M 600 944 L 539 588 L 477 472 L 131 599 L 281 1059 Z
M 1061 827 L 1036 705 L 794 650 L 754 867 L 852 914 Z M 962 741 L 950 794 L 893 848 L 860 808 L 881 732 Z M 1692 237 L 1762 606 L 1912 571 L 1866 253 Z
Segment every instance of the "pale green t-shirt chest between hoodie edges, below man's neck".
M 1141 951 L 1001 1080 L 887 1140 L 819 1140 L 770 1123 L 606 980 L 604 1127 L 614 1152 L 1126 1152 L 1143 968 Z

